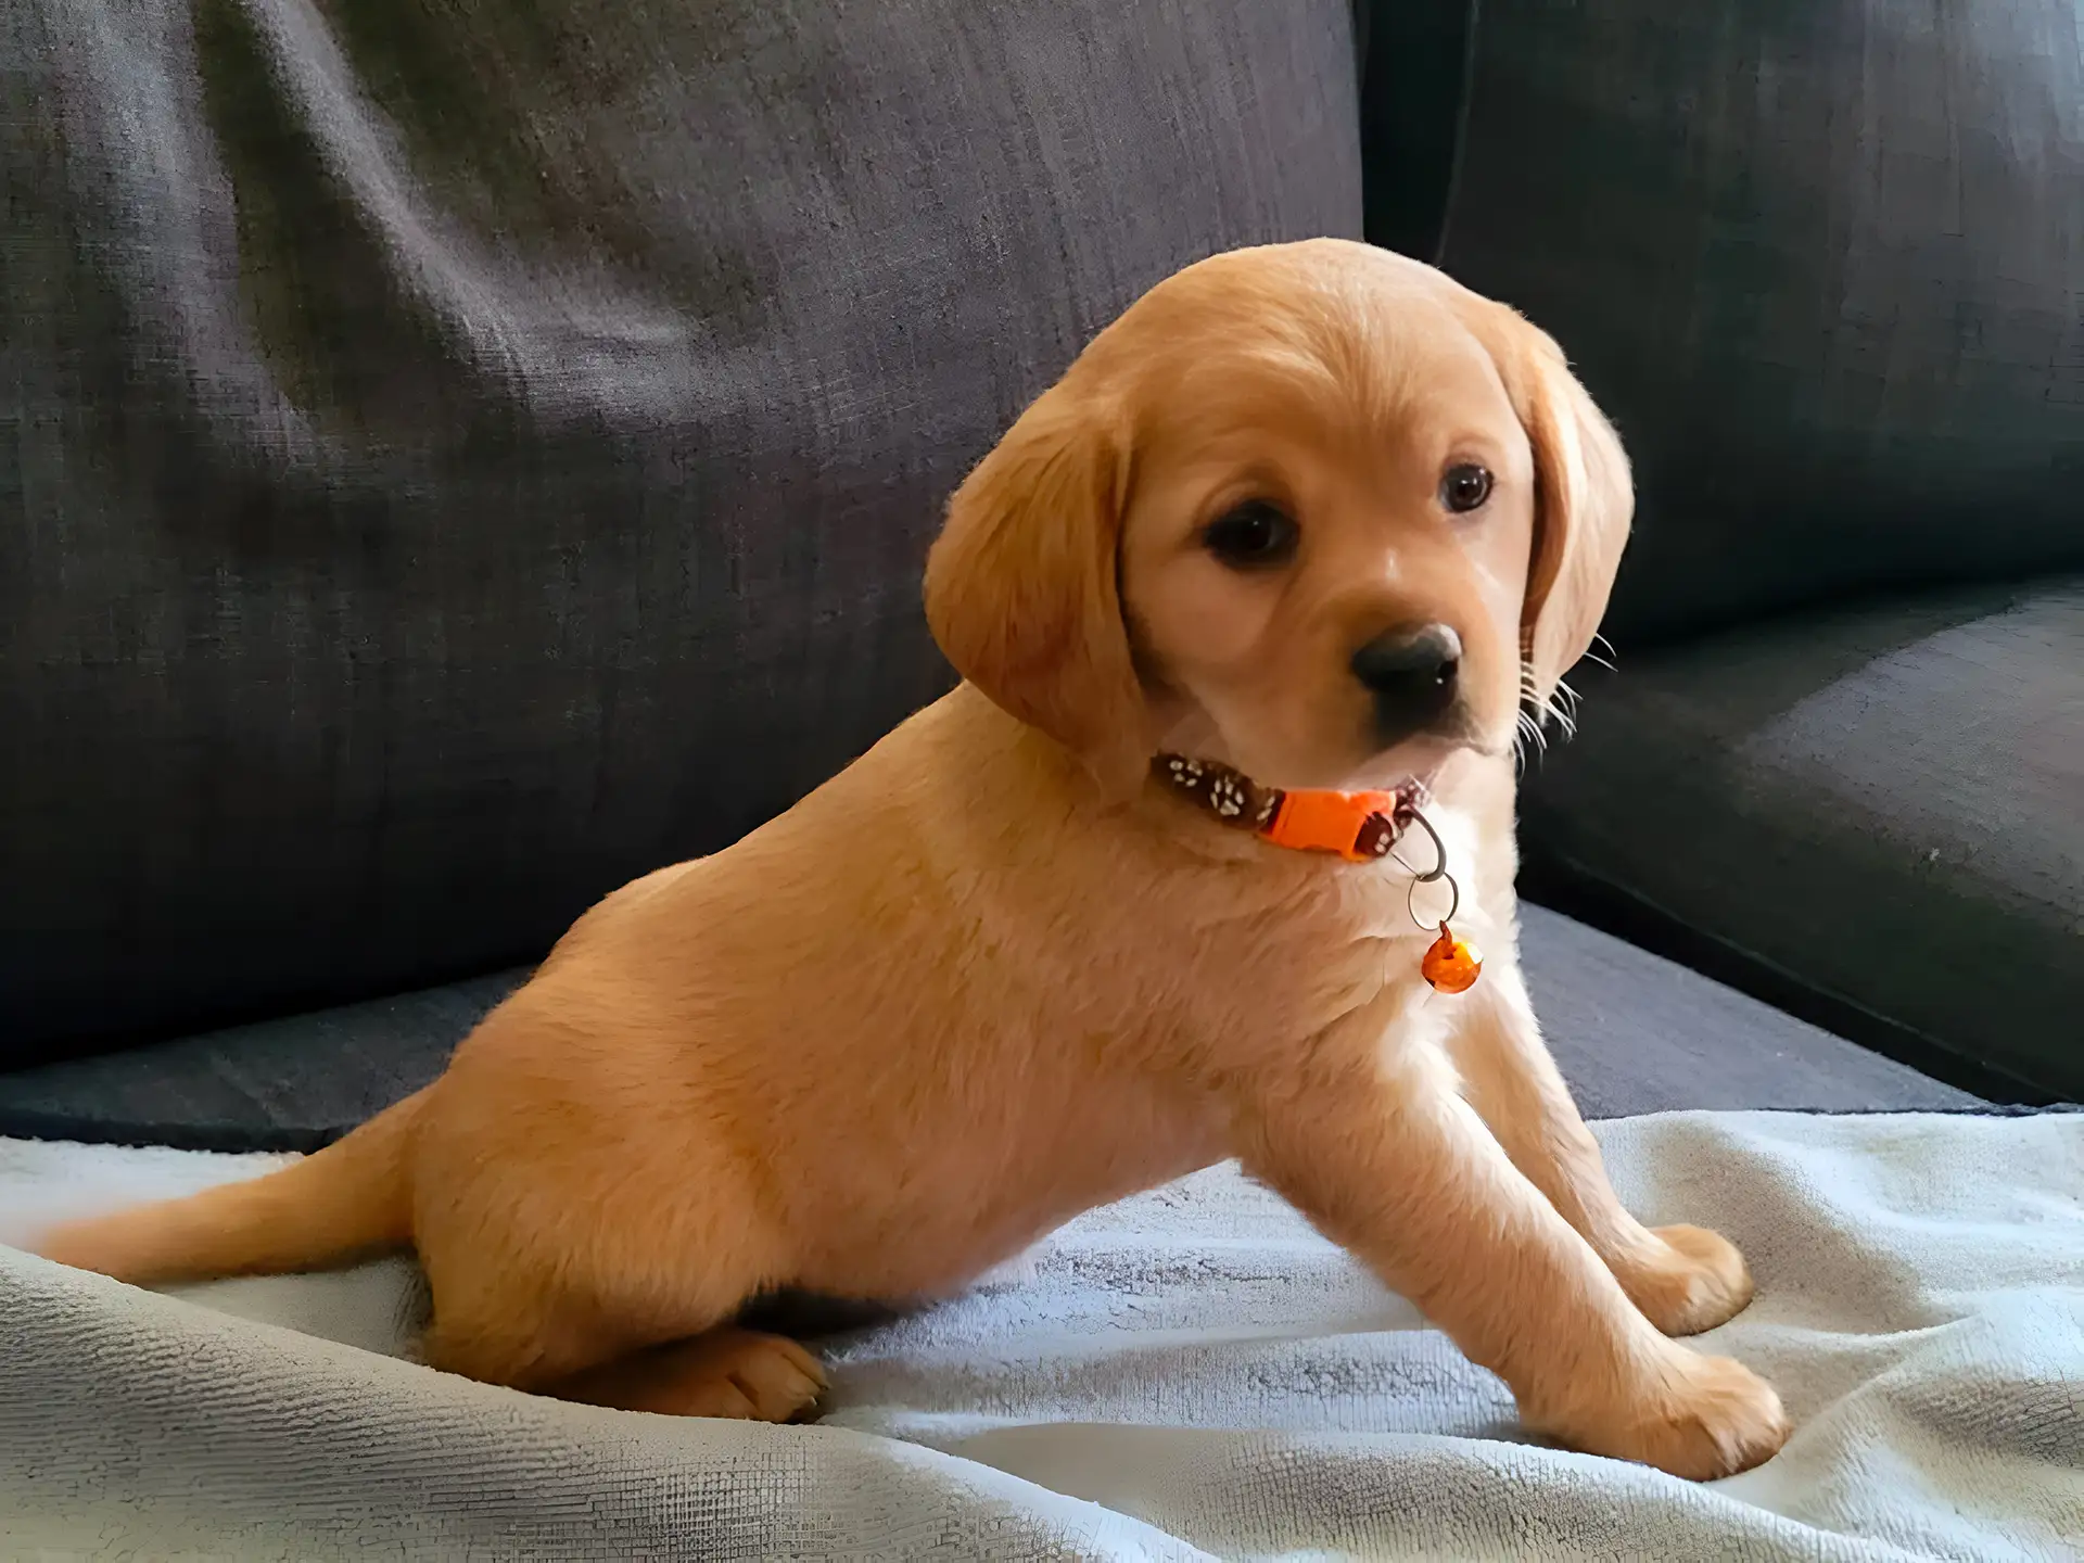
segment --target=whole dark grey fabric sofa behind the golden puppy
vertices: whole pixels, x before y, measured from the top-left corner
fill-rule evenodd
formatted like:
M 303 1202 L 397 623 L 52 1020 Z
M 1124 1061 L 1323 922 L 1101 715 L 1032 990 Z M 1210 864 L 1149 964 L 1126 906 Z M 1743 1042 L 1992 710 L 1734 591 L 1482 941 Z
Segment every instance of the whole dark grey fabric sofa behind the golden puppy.
M 1855 69 L 1813 10 L 1734 60 L 1619 0 L 17 6 L 0 1134 L 308 1146 L 419 1084 L 944 686 L 940 504 L 1100 323 L 1307 233 L 1523 306 L 1640 463 L 1623 677 L 1528 804 L 1530 886 L 1636 940 L 1528 919 L 1588 1111 L 2074 1094 L 2084 190 L 2074 115 L 2005 119 L 2074 56 L 1884 50 L 1913 131 L 1961 48 L 2044 88 L 1949 177 L 2059 221 L 1949 269 L 1773 156 Z

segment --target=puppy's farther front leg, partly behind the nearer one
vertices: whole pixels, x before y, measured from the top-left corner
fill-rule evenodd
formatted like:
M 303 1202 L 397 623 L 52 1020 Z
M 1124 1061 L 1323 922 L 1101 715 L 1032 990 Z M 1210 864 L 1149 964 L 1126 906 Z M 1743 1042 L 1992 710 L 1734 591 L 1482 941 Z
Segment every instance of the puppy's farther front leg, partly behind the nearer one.
M 1728 1238 L 1684 1225 L 1653 1232 L 1621 1207 L 1513 963 L 1494 963 L 1457 1002 L 1448 1055 L 1513 1165 L 1584 1234 L 1651 1323 L 1692 1336 L 1751 1302 L 1751 1271 Z

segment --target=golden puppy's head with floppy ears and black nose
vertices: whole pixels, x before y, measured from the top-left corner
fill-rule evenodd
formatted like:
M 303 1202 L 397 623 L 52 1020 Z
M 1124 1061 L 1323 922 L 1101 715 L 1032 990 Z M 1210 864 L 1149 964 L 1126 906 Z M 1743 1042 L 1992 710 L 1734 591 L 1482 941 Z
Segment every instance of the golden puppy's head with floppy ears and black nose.
M 927 619 L 1111 790 L 1505 752 L 1592 642 L 1628 461 L 1557 346 L 1361 244 L 1236 250 L 1102 331 L 957 492 Z

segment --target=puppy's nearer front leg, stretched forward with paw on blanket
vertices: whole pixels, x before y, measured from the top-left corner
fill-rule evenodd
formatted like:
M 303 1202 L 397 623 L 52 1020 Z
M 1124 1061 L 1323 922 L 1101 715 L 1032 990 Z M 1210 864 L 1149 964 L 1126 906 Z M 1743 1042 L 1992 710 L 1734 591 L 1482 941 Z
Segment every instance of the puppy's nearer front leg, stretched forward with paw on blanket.
M 1246 1121 L 1246 1165 L 1498 1373 L 1530 1428 L 1694 1480 L 1771 1457 L 1771 1386 L 1651 1328 L 1453 1084 L 1419 1073 L 1282 1092 Z

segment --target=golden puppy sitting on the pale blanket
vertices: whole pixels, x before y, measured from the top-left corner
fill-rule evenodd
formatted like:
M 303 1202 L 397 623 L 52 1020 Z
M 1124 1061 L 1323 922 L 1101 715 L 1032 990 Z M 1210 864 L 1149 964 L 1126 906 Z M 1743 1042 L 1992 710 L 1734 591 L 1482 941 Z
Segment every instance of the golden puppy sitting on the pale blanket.
M 602 900 L 336 1146 L 42 1252 L 167 1282 L 413 1246 L 436 1367 L 790 1419 L 819 1365 L 734 1323 L 750 1298 L 946 1294 L 1240 1157 L 1532 1428 L 1688 1478 L 1767 1459 L 1773 1390 L 1665 1338 L 1744 1307 L 1742 1259 L 1621 1209 L 1513 954 L 1515 727 L 1630 513 L 1509 308 L 1330 240 L 1188 267 L 957 492 L 925 577 L 952 694 Z M 1421 979 L 1430 842 L 1290 850 L 1232 786 L 1423 788 L 1480 982 Z

